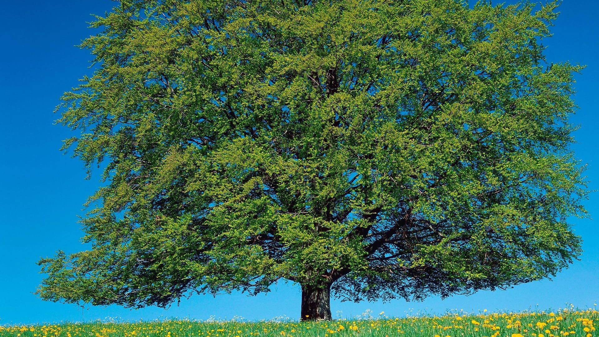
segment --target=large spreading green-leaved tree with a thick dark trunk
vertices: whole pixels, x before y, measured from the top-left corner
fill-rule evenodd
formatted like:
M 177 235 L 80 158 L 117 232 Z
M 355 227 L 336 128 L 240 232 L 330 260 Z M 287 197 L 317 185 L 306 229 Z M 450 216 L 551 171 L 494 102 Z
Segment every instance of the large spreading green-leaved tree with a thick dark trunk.
M 81 44 L 65 141 L 105 186 L 46 300 L 168 306 L 301 285 L 419 300 L 555 276 L 586 216 L 556 2 L 122 0 Z M 90 172 L 90 171 L 89 171 Z

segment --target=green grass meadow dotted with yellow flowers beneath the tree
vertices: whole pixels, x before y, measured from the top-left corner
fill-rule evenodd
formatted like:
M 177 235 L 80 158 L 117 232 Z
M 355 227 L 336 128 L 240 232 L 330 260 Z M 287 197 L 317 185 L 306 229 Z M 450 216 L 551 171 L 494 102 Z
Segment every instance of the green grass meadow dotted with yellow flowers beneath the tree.
M 350 337 L 350 336 L 599 336 L 599 311 L 562 310 L 503 314 L 447 314 L 431 317 L 335 320 L 320 322 L 202 322 L 189 320 L 139 323 L 86 323 L 0 326 L 0 337 Z

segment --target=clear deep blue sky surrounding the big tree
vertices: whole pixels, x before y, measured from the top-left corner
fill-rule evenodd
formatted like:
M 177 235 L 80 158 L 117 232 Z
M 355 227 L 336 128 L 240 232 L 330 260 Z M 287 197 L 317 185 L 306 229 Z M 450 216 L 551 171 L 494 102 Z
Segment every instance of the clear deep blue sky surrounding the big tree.
M 508 1 L 513 2 L 512 0 Z M 99 186 L 98 174 L 84 180 L 80 161 L 59 152 L 61 140 L 71 136 L 65 127 L 53 125 L 53 109 L 60 95 L 90 73 L 87 50 L 74 47 L 93 32 L 86 22 L 90 13 L 102 14 L 113 6 L 108 0 L 2 1 L 0 20 L 0 325 L 82 321 L 119 317 L 122 320 L 153 320 L 168 317 L 206 319 L 211 315 L 250 320 L 287 315 L 299 317 L 297 286 L 278 284 L 267 295 L 241 294 L 194 296 L 168 310 L 108 308 L 81 309 L 74 305 L 43 302 L 33 292 L 42 275 L 35 264 L 57 249 L 83 249 L 77 215 L 86 197 Z M 599 31 L 595 0 L 565 0 L 561 17 L 548 46 L 549 61 L 573 61 L 588 67 L 577 76 L 576 96 L 580 110 L 571 119 L 581 128 L 574 145 L 578 157 L 589 164 L 590 188 L 599 189 L 597 136 L 599 123 Z M 591 194 L 586 207 L 599 217 L 599 192 Z M 391 303 L 332 303 L 332 312 L 343 316 L 373 309 L 378 314 L 403 316 L 419 310 L 444 312 L 488 309 L 517 311 L 535 307 L 560 308 L 565 303 L 592 306 L 599 300 L 599 234 L 592 219 L 576 220 L 576 233 L 584 242 L 580 261 L 554 281 L 520 285 L 507 291 L 480 292 L 424 302 L 395 300 Z

